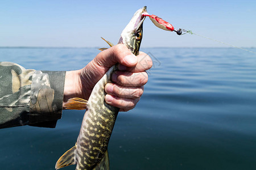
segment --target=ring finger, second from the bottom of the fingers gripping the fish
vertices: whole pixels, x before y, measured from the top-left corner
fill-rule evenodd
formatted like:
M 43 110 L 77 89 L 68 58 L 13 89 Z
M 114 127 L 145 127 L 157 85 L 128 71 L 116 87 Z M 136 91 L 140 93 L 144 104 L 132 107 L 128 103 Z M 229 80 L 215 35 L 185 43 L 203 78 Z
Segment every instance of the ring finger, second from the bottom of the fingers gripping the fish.
M 123 87 L 118 84 L 108 83 L 105 86 L 105 92 L 123 98 L 137 99 L 143 94 L 143 86 L 141 87 Z

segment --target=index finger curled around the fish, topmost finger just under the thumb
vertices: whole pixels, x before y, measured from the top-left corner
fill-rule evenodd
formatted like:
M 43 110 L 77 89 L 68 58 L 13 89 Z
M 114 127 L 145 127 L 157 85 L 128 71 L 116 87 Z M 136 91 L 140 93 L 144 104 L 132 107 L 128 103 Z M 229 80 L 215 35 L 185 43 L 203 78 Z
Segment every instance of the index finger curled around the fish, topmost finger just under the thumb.
M 137 56 L 138 63 L 134 67 L 127 67 L 122 64 L 118 64 L 118 70 L 121 71 L 130 71 L 130 72 L 141 72 L 148 70 L 152 67 L 153 62 L 150 56 L 148 56 L 146 53 L 139 52 L 139 55 Z

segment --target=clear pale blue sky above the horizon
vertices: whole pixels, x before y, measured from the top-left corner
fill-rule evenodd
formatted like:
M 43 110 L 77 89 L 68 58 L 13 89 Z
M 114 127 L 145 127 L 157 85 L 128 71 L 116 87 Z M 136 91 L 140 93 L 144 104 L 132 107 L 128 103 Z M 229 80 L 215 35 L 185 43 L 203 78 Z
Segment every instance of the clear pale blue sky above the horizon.
M 116 44 L 134 12 L 154 14 L 228 44 L 256 47 L 256 1 L 2 1 L 0 46 L 106 47 Z M 196 35 L 178 36 L 144 20 L 142 47 L 228 47 Z

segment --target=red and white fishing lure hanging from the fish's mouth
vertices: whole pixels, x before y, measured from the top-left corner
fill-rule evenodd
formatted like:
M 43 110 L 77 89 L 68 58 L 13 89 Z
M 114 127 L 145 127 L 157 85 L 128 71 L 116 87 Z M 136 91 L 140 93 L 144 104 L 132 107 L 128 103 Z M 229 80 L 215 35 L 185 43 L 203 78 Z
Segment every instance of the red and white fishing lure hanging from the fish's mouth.
M 156 27 L 164 29 L 166 31 L 175 31 L 177 33 L 177 35 L 181 35 L 182 31 L 181 29 L 174 29 L 174 27 L 172 26 L 172 24 L 166 22 L 165 20 L 163 20 L 162 18 L 159 18 L 156 15 L 150 15 L 147 12 L 143 12 L 142 13 L 142 17 L 144 16 L 148 16 L 150 18 L 150 20 L 152 21 L 152 23 L 154 23 L 156 25 Z

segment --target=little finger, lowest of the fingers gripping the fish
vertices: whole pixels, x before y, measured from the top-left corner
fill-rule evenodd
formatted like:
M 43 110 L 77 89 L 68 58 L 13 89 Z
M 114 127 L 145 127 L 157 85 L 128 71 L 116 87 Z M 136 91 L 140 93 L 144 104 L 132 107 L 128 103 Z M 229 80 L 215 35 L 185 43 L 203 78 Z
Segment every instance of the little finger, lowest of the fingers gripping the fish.
M 135 107 L 135 105 L 139 101 L 139 98 L 128 99 L 128 98 L 122 98 L 122 97 L 117 97 L 117 96 L 107 94 L 105 96 L 105 101 L 109 105 L 118 107 L 120 109 L 123 109 L 124 111 L 129 111 L 130 109 L 133 109 Z

